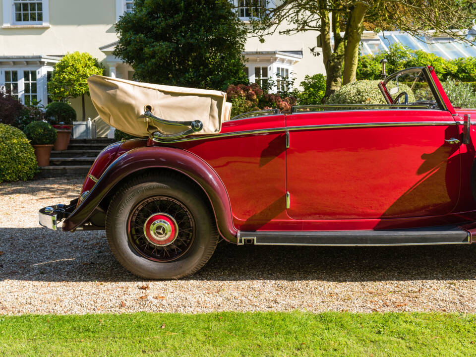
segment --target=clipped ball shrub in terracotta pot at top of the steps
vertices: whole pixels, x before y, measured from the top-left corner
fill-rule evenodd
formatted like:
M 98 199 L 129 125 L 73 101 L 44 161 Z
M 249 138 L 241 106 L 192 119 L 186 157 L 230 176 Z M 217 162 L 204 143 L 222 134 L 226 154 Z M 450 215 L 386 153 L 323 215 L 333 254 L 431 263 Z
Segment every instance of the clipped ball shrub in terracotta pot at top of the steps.
M 71 138 L 72 123 L 76 120 L 76 111 L 67 103 L 53 102 L 46 107 L 45 117 L 58 133 L 55 150 L 66 150 Z

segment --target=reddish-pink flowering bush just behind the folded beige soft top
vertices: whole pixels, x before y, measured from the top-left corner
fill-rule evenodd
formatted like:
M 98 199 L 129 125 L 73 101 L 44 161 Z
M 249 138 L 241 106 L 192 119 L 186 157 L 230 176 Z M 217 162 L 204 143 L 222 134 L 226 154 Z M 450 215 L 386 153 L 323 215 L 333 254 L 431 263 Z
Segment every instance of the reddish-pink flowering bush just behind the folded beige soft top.
M 227 89 L 227 98 L 232 102 L 232 117 L 260 109 L 277 108 L 282 112 L 291 111 L 296 104 L 293 96 L 281 98 L 277 94 L 264 93 L 258 84 L 231 84 Z

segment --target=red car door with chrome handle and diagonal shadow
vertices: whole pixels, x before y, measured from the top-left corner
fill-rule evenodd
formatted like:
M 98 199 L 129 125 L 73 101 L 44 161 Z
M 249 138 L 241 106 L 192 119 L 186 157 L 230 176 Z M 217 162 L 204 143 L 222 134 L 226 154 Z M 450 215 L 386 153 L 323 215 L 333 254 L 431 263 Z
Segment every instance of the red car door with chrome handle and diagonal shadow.
M 447 111 L 299 113 L 286 127 L 293 219 L 438 216 L 456 206 L 459 133 Z

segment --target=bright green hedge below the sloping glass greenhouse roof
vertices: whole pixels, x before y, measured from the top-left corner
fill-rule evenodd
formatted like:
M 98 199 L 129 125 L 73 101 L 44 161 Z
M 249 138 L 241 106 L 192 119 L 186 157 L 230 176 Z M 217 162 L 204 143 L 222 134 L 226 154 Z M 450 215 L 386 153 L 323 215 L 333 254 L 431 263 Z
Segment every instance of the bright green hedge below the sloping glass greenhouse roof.
M 393 44 L 389 52 L 361 56 L 357 65 L 357 79 L 380 79 L 382 65 L 380 60 L 388 60 L 387 74 L 409 67 L 432 65 L 440 80 L 458 79 L 476 81 L 476 58 L 445 60 L 435 54 L 421 50 L 411 50 L 401 44 Z

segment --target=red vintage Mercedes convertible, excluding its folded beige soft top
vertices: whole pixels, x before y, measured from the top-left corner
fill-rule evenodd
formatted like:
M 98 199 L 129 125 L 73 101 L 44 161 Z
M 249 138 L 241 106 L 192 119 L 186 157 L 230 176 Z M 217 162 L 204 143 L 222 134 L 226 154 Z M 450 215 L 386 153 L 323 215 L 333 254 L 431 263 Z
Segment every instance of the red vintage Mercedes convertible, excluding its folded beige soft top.
M 454 108 L 433 67 L 378 85 L 386 104 L 295 106 L 117 142 L 78 199 L 40 224 L 106 230 L 147 279 L 196 272 L 220 237 L 241 244 L 469 244 L 476 233 L 473 109 Z M 145 108 L 145 116 L 158 118 Z

